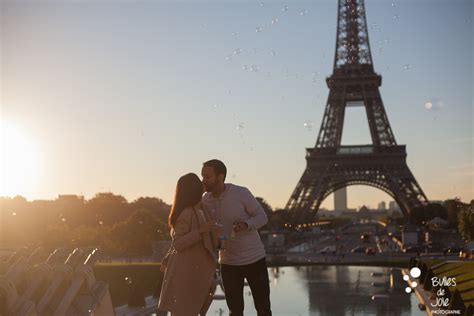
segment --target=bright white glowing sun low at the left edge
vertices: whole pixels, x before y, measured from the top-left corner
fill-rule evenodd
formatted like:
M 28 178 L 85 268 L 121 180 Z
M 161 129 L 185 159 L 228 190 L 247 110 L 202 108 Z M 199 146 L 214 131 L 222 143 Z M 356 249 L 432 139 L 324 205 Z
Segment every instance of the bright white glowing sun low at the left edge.
M 0 120 L 0 196 L 25 196 L 37 190 L 37 145 L 26 129 Z

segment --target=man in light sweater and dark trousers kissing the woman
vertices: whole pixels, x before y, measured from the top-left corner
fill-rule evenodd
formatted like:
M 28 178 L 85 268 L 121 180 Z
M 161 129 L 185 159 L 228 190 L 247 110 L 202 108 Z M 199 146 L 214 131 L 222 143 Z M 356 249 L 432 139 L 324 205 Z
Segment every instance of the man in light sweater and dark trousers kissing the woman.
M 226 174 L 226 166 L 217 159 L 205 162 L 201 171 L 203 207 L 222 224 L 219 237 L 225 242 L 219 263 L 227 306 L 231 316 L 243 315 L 247 279 L 258 316 L 271 316 L 265 248 L 257 231 L 267 223 L 267 215 L 247 188 L 224 183 Z

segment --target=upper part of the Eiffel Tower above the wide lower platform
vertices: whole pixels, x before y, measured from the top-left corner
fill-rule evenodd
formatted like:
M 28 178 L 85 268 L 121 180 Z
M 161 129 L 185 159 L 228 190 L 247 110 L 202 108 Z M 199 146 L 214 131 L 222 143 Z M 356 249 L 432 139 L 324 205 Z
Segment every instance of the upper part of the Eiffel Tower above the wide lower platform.
M 351 101 L 371 103 L 366 107 L 373 145 L 396 146 L 378 91 L 382 77 L 374 72 L 363 0 L 339 0 L 334 69 L 327 84 L 333 106 L 326 109 L 317 148 L 341 145 L 344 107 Z

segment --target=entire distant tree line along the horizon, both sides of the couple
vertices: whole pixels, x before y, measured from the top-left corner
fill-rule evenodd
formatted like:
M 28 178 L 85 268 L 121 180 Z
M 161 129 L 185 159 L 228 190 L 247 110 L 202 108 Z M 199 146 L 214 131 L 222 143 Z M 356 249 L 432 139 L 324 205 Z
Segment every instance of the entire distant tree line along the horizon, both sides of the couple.
M 274 210 L 263 198 L 257 200 L 269 218 L 262 229 L 281 230 L 291 222 L 288 210 Z M 435 217 L 445 219 L 470 241 L 474 240 L 472 205 L 451 199 L 414 209 L 411 216 L 419 225 Z M 97 193 L 90 200 L 76 195 L 34 201 L 0 197 L 0 248 L 100 246 L 110 255 L 147 256 L 154 241 L 170 238 L 170 208 L 156 197 L 128 202 L 113 193 Z M 331 225 L 338 225 L 337 219 L 333 221 Z

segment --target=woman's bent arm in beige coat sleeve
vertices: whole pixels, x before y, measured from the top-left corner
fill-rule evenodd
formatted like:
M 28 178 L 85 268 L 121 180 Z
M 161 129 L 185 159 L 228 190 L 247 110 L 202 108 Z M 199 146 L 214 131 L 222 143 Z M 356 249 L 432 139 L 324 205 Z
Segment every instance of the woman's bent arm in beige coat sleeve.
M 173 244 L 174 248 L 179 252 L 190 247 L 201 240 L 201 234 L 198 230 L 192 230 L 193 209 L 187 208 L 183 210 L 177 218 L 174 226 Z

